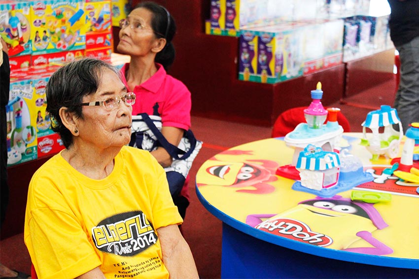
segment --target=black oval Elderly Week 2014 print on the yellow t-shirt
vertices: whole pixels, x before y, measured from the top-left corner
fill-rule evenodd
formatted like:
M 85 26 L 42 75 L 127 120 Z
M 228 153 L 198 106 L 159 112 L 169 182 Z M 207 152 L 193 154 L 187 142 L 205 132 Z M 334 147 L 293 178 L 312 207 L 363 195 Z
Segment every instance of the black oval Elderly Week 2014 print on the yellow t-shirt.
M 153 246 L 157 234 L 142 211 L 108 217 L 92 228 L 96 248 L 115 255 L 131 257 Z

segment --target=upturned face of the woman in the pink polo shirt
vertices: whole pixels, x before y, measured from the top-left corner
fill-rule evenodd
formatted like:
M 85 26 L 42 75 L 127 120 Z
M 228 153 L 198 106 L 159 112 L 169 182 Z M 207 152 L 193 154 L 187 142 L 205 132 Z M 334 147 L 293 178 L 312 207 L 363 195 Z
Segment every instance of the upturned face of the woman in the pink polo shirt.
M 119 31 L 119 52 L 132 56 L 145 56 L 156 43 L 151 27 L 153 14 L 145 8 L 134 9 L 127 17 L 128 26 Z

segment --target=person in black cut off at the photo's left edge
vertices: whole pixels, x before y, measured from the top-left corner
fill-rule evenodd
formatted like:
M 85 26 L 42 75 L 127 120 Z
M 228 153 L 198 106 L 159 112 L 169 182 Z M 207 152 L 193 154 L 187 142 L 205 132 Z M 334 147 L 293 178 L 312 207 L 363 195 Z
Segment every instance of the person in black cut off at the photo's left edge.
M 6 216 L 6 209 L 9 203 L 9 186 L 7 184 L 7 123 L 6 123 L 6 105 L 9 102 L 10 90 L 10 65 L 9 57 L 7 55 L 7 45 L 2 38 L 0 38 L 0 179 L 1 179 L 1 225 Z M 29 275 L 22 272 L 11 270 L 10 268 L 0 263 L 0 278 L 29 278 Z

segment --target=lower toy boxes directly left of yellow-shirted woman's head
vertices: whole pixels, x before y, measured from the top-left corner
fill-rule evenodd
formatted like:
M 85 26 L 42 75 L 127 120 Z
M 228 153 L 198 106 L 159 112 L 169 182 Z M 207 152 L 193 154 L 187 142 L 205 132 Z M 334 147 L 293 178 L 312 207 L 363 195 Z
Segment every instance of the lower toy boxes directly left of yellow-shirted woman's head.
M 45 112 L 45 86 L 58 66 L 23 68 L 10 74 L 10 98 L 6 106 L 8 165 L 51 155 L 64 148 L 50 129 Z

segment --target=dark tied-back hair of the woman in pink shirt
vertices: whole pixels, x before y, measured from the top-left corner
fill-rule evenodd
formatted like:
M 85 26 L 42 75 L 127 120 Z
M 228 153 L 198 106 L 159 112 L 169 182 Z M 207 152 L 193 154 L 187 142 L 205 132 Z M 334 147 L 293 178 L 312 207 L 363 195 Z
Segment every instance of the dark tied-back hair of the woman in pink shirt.
M 166 39 L 166 46 L 157 53 L 154 62 L 162 64 L 167 70 L 175 61 L 175 46 L 172 43 L 176 33 L 175 20 L 165 7 L 152 1 L 141 2 L 134 9 L 137 8 L 147 9 L 153 14 L 151 28 L 158 38 Z

